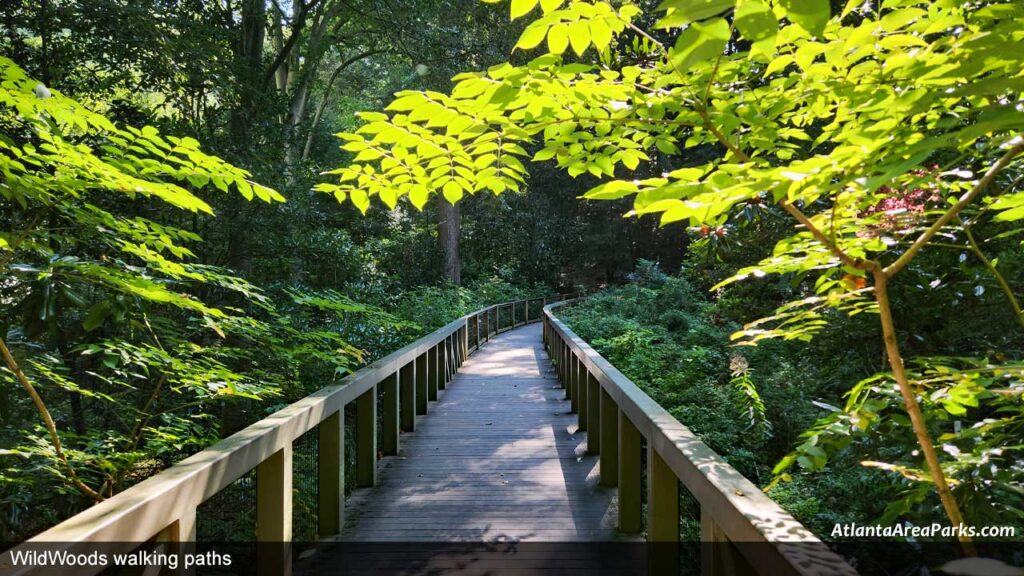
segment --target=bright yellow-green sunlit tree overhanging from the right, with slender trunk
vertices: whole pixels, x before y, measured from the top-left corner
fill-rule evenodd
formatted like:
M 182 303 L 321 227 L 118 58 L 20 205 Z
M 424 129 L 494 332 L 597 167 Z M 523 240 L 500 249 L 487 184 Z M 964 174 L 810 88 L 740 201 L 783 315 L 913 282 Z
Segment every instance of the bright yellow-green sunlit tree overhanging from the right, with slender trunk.
M 536 4 L 513 2 L 513 17 Z M 483 190 L 520 190 L 521 159 L 554 160 L 570 176 L 611 178 L 586 198 L 632 198 L 629 214 L 686 221 L 707 244 L 718 243 L 712 231 L 722 240 L 730 220 L 751 217 L 752 207 L 773 206 L 797 230 L 713 288 L 775 275 L 800 289 L 735 337 L 808 341 L 841 316 L 879 313 L 924 471 L 883 467 L 934 482 L 948 519 L 959 523 L 949 486 L 966 480 L 957 478 L 964 470 L 940 462 L 927 423 L 934 416 L 915 400 L 933 384 L 904 369 L 890 281 L 920 275 L 923 248 L 943 244 L 944 235 L 977 257 L 1024 326 L 1006 275 L 981 248 L 1016 235 L 1012 222 L 1024 217 L 1014 176 L 1024 152 L 1024 59 L 1016 49 L 1024 10 L 951 0 L 849 2 L 841 13 L 824 0 L 669 1 L 657 10 L 656 28 L 679 29 L 674 42 L 636 26 L 642 10 L 629 3 L 542 5 L 518 46 L 540 46 L 546 37 L 546 53 L 461 74 L 449 94 L 398 93 L 392 114 L 368 113 L 364 127 L 340 134 L 361 157 L 334 172 L 337 183 L 318 189 L 350 196 L 364 211 L 373 196 L 394 206 L 408 195 L 421 207 L 432 194 L 455 202 Z M 584 31 L 595 20 L 611 31 L 610 42 L 570 61 L 567 46 L 585 56 Z M 663 169 L 640 170 L 641 161 Z M 981 243 L 979 225 L 990 234 Z M 638 331 L 607 345 L 642 357 L 659 337 Z M 1007 394 L 1019 400 L 1010 366 Z M 1015 427 L 1016 414 L 979 389 L 950 384 L 928 402 L 962 416 L 998 414 Z M 1016 445 L 1000 438 L 1004 449 Z M 812 468 L 827 460 L 816 445 L 802 449 L 792 460 Z

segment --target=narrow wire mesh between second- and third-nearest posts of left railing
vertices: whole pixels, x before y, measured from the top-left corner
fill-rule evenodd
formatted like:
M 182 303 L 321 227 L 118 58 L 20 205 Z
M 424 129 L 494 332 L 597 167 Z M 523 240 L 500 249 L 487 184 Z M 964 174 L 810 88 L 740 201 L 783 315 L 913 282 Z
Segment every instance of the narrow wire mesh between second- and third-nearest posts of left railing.
M 319 532 L 318 448 L 318 427 L 312 428 L 292 443 L 292 540 L 294 542 L 313 542 Z

